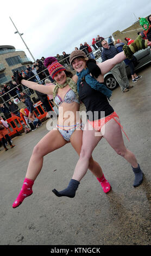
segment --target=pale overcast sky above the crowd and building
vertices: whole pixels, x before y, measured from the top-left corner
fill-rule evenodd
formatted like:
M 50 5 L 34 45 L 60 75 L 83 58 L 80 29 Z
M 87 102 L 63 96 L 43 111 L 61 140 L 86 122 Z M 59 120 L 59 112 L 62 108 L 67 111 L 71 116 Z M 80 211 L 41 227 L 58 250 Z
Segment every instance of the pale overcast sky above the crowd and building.
M 90 45 L 97 35 L 106 38 L 149 14 L 151 0 L 2 1 L 0 45 L 15 46 L 33 60 L 9 17 L 34 58 L 40 59 L 71 53 L 80 43 Z

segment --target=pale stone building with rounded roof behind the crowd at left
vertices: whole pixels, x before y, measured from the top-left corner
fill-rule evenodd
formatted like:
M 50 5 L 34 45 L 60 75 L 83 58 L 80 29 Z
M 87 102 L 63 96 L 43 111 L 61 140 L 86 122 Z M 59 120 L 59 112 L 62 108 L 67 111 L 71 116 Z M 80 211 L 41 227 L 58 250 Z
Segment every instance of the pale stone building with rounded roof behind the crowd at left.
M 14 70 L 26 70 L 27 65 L 33 62 L 27 58 L 26 53 L 16 50 L 11 45 L 0 46 L 0 84 L 7 84 L 11 81 Z

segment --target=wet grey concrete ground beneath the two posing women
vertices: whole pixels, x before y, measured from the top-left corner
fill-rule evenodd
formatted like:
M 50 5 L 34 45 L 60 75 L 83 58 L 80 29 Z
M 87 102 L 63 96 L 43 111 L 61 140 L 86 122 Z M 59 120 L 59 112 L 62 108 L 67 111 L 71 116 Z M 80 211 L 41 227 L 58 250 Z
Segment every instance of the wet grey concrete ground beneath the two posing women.
M 46 135 L 46 122 L 36 131 L 13 139 L 15 148 L 0 151 L 0 245 L 151 245 L 150 205 L 150 66 L 134 88 L 113 92 L 111 105 L 118 113 L 125 145 L 144 172 L 134 188 L 131 166 L 102 139 L 93 158 L 102 166 L 112 191 L 104 194 L 90 171 L 80 182 L 75 198 L 58 198 L 70 181 L 78 155 L 70 144 L 45 156 L 33 186 L 33 195 L 12 209 L 20 192 L 34 145 Z M 131 80 L 130 80 L 131 82 Z M 54 171 L 56 169 L 56 171 Z

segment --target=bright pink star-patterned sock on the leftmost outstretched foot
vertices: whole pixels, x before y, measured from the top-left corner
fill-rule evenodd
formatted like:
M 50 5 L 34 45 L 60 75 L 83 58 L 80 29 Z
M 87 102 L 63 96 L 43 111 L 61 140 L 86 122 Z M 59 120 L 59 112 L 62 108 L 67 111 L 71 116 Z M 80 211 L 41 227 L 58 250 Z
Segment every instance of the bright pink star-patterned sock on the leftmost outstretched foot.
M 34 184 L 34 180 L 30 180 L 28 178 L 24 179 L 21 191 L 18 194 L 18 197 L 16 198 L 14 204 L 12 204 L 12 208 L 16 208 L 23 202 L 24 198 L 29 197 L 31 196 L 31 194 L 33 194 L 33 190 L 32 190 L 33 184 Z

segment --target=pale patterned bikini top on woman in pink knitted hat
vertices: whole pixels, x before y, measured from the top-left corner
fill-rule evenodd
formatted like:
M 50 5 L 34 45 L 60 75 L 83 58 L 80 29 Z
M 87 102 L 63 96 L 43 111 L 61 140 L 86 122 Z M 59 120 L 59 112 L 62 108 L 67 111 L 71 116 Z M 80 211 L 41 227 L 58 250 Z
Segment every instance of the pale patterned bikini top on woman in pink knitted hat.
M 69 89 L 68 92 L 65 94 L 64 100 L 62 100 L 61 97 L 58 94 L 56 94 L 54 102 L 55 102 L 56 106 L 58 106 L 58 107 L 63 102 L 66 102 L 66 103 L 72 103 L 72 102 L 80 103 L 79 100 L 77 99 L 77 96 L 75 95 L 75 93 L 71 89 Z

